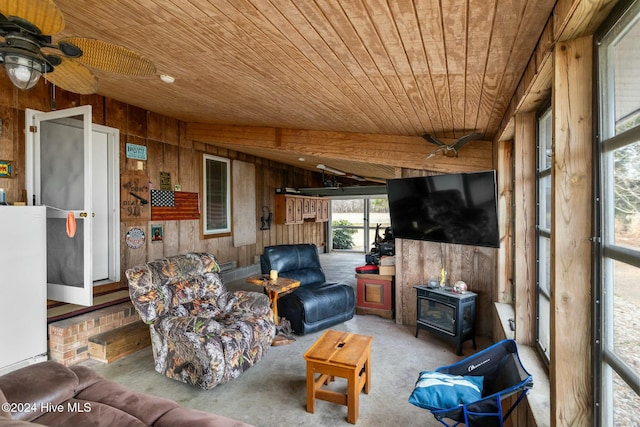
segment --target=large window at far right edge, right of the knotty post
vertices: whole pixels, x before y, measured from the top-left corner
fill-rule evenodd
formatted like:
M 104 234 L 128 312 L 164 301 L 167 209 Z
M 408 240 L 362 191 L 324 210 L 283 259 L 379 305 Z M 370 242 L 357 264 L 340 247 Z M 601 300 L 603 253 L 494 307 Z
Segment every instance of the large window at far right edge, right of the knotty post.
M 640 425 L 640 2 L 598 39 L 598 422 Z M 598 303 L 601 301 L 601 303 Z

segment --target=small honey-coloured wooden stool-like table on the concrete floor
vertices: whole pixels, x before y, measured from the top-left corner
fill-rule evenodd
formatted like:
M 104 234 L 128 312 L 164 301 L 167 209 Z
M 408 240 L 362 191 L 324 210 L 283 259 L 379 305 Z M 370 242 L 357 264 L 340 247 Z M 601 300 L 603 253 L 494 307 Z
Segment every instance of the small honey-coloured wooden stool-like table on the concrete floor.
M 373 337 L 328 330 L 304 354 L 307 361 L 307 412 L 315 411 L 315 399 L 347 406 L 347 421 L 358 421 L 360 392 L 371 387 Z M 319 376 L 316 378 L 316 374 Z M 347 394 L 323 389 L 335 377 L 347 380 Z

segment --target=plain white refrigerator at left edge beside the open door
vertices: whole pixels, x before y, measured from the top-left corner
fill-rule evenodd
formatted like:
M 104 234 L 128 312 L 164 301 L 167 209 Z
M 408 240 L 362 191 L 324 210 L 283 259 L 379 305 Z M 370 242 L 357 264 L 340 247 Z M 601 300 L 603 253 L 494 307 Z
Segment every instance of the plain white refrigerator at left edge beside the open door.
M 47 359 L 44 206 L 0 206 L 0 375 Z

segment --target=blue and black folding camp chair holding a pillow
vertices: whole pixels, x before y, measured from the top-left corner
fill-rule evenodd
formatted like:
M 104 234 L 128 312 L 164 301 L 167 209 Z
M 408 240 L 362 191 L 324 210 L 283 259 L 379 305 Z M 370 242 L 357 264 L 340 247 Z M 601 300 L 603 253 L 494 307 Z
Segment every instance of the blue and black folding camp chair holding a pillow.
M 504 421 L 533 387 L 533 377 L 522 366 L 518 346 L 511 339 L 493 344 L 453 365 L 442 366 L 435 372 L 484 377 L 479 400 L 451 408 L 428 408 L 447 427 L 460 423 L 467 427 L 503 427 Z M 511 396 L 515 401 L 503 413 L 503 401 Z

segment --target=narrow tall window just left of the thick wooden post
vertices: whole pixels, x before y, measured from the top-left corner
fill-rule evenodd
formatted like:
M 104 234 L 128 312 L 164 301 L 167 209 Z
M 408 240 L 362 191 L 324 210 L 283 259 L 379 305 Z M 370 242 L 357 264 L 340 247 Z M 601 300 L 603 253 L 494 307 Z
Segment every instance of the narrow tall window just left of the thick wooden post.
M 551 290 L 551 108 L 538 118 L 536 163 L 536 343 L 549 364 Z

